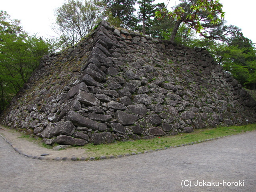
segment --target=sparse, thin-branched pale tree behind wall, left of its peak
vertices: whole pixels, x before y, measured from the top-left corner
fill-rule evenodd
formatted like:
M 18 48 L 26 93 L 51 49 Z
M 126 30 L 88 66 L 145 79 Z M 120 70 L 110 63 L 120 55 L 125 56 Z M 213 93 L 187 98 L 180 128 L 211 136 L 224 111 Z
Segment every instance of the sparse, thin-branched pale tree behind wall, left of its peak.
M 92 0 L 69 0 L 56 8 L 55 16 L 52 29 L 59 36 L 61 48 L 79 42 L 102 19 L 100 9 Z

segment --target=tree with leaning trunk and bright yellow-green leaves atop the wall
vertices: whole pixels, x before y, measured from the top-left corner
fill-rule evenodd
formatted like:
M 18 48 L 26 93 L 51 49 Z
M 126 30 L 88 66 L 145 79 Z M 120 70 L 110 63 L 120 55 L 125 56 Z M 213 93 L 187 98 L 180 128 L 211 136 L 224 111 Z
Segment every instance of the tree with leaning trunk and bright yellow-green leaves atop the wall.
M 182 3 L 176 6 L 171 12 L 167 12 L 166 8 L 164 8 L 162 11 L 155 13 L 157 18 L 167 16 L 175 20 L 170 36 L 170 41 L 172 42 L 174 42 L 174 38 L 182 22 L 189 25 L 188 32 L 194 29 L 206 38 L 218 38 L 214 34 L 211 34 L 210 29 L 222 23 L 224 14 L 222 4 L 218 0 L 182 0 Z

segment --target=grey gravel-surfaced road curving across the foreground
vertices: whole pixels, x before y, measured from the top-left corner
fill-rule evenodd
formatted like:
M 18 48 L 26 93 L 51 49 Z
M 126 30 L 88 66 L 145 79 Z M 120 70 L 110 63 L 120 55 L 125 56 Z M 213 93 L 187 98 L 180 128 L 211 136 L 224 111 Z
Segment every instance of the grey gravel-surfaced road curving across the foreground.
M 0 137 L 0 191 L 255 192 L 255 143 L 256 131 L 124 158 L 65 162 L 26 158 Z M 191 188 L 182 188 L 182 180 Z M 223 180 L 233 186 L 222 186 Z

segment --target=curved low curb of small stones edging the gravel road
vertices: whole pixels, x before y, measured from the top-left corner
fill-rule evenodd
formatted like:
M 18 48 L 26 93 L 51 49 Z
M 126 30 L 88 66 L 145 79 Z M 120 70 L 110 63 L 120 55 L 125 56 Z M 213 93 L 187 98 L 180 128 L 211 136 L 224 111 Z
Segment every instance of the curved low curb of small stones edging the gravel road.
M 48 154 L 42 154 L 41 156 L 33 156 L 33 155 L 28 155 L 28 154 L 25 154 L 23 153 L 21 150 L 19 150 L 18 148 L 16 148 L 10 141 L 8 141 L 2 134 L 0 134 L 2 136 L 2 138 L 8 143 L 10 144 L 10 146 L 12 146 L 12 148 L 18 152 L 20 155 L 23 155 L 23 156 L 26 156 L 28 158 L 32 158 L 32 159 L 38 159 L 38 160 L 56 160 L 56 161 L 67 161 L 67 160 L 72 160 L 72 161 L 94 161 L 94 160 L 105 160 L 105 159 L 114 159 L 114 158 L 122 158 L 122 157 L 127 157 L 127 156 L 134 156 L 134 155 L 137 155 L 137 154 L 143 154 L 142 152 L 138 152 L 137 154 L 132 152 L 131 154 L 125 154 L 125 155 L 117 155 L 117 156 L 100 156 L 99 158 L 95 158 L 95 157 L 90 157 L 90 158 L 85 158 L 85 157 L 81 157 L 81 158 L 78 158 L 76 156 L 72 156 L 71 158 L 68 158 L 68 157 L 63 157 L 63 158 L 60 158 L 60 157 L 56 157 L 56 158 L 47 158 L 45 156 L 47 156 Z M 149 153 L 149 152 L 156 152 L 156 151 L 160 151 L 160 150 L 165 150 L 165 149 L 170 149 L 170 148 L 177 148 L 177 147 L 182 147 L 182 146 L 188 146 L 188 145 L 193 145 L 193 144 L 198 144 L 198 143 L 202 143 L 202 142 L 207 142 L 207 141 L 212 141 L 212 140 L 217 140 L 217 139 L 220 139 L 220 138 L 224 138 L 224 137 L 228 137 L 228 136 L 233 136 L 232 135 L 227 135 L 227 136 L 220 136 L 220 137 L 216 137 L 216 138 L 210 138 L 210 139 L 205 139 L 205 140 L 202 140 L 202 141 L 195 141 L 195 142 L 191 142 L 191 143 L 186 143 L 186 144 L 181 144 L 181 145 L 178 145 L 178 146 L 170 146 L 170 147 L 165 147 L 165 148 L 160 148 L 160 149 L 155 149 L 155 150 L 148 150 L 148 151 L 144 151 L 144 154 L 146 153 Z

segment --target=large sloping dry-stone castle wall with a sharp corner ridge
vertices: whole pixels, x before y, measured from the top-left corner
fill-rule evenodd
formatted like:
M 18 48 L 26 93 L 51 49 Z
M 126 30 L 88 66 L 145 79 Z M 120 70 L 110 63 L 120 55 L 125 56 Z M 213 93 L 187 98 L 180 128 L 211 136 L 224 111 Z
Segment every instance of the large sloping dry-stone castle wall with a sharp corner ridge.
M 205 49 L 101 22 L 42 58 L 1 121 L 46 144 L 84 145 L 253 123 L 255 106 Z

